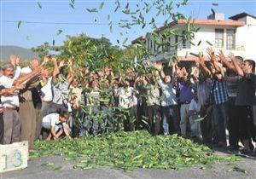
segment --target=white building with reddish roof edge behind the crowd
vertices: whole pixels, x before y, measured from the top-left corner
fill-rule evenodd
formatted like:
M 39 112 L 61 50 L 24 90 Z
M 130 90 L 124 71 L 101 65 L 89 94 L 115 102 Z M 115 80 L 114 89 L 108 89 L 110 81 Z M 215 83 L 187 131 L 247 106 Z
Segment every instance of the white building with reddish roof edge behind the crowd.
M 170 46 L 167 47 L 166 52 L 163 52 L 150 38 L 150 32 L 135 39 L 132 43 L 144 39 L 148 50 L 157 54 L 150 57 L 151 61 L 169 61 L 172 55 L 177 55 L 180 61 L 195 61 L 195 56 L 189 53 L 197 54 L 201 51 L 206 53 L 206 49 L 210 47 L 209 43 L 212 43 L 213 49 L 223 49 L 225 55 L 233 52 L 234 55 L 256 61 L 256 17 L 253 15 L 241 13 L 230 17 L 230 20 L 224 20 L 224 14 L 215 14 L 214 16 L 209 15 L 207 20 L 195 19 L 194 24 L 196 27 L 200 27 L 192 40 L 195 45 L 183 40 L 177 48 Z M 167 27 L 160 27 L 158 32 L 166 28 L 178 29 L 178 31 L 183 32 L 187 29 L 187 20 L 173 21 Z M 182 39 L 173 36 L 169 40 L 171 44 L 174 44 Z

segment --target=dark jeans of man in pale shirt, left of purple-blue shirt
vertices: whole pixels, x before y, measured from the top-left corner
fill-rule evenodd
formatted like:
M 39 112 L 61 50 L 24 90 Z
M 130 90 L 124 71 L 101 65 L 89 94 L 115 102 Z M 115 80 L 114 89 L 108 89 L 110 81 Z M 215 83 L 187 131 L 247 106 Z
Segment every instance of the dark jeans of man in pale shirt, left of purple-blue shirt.
M 162 107 L 162 118 L 164 134 L 179 132 L 177 105 Z

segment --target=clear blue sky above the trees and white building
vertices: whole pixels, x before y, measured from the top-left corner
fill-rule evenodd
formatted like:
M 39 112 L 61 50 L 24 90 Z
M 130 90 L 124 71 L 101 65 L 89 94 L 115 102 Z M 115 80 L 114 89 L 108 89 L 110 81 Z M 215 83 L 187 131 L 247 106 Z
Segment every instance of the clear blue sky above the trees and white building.
M 131 29 L 120 28 L 119 20 L 129 17 L 122 12 L 114 13 L 115 0 L 105 0 L 99 13 L 89 13 L 86 9 L 98 8 L 103 0 L 75 0 L 74 9 L 69 3 L 71 0 L 0 0 L 0 45 L 15 45 L 24 48 L 37 47 L 45 42 L 61 45 L 67 39 L 67 35 L 77 36 L 85 33 L 92 38 L 109 38 L 111 43 L 122 45 L 125 38 L 127 43 L 151 32 L 151 27 L 131 26 Z M 167 0 L 166 0 L 167 1 Z M 39 8 L 38 2 L 42 9 Z M 142 0 L 120 0 L 125 7 L 129 2 L 131 10 L 136 9 L 136 4 L 144 6 Z M 152 2 L 143 0 L 143 2 Z M 177 2 L 177 1 L 174 1 Z M 212 6 L 218 3 L 218 6 Z M 234 14 L 246 12 L 256 16 L 256 0 L 189 0 L 188 5 L 174 11 L 196 19 L 207 19 L 211 9 L 216 13 L 224 13 L 225 19 Z M 108 14 L 113 21 L 113 32 L 108 26 Z M 144 14 L 147 22 L 155 18 L 156 9 Z M 157 25 L 161 26 L 165 17 L 155 18 Z M 18 21 L 22 21 L 18 28 Z M 172 21 L 172 20 L 169 20 Z M 57 35 L 61 30 L 60 35 Z M 121 35 L 120 32 L 123 34 Z M 119 39 L 119 42 L 117 40 Z

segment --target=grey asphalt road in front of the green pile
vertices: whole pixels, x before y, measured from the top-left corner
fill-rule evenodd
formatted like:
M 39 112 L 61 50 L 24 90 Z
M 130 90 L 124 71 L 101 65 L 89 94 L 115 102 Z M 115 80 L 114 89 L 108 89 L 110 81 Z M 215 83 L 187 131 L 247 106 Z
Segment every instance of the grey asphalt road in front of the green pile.
M 226 155 L 220 152 L 218 154 Z M 61 165 L 61 170 L 48 170 L 47 167 L 41 166 L 47 162 Z M 256 160 L 244 158 L 236 162 L 236 165 L 247 170 L 247 173 L 232 170 L 233 166 L 227 163 L 216 163 L 212 169 L 207 170 L 201 170 L 199 167 L 190 167 L 183 170 L 134 169 L 132 171 L 115 170 L 101 166 L 90 170 L 74 170 L 74 164 L 74 161 L 65 161 L 61 156 L 32 159 L 28 162 L 26 169 L 0 174 L 0 178 L 256 178 Z

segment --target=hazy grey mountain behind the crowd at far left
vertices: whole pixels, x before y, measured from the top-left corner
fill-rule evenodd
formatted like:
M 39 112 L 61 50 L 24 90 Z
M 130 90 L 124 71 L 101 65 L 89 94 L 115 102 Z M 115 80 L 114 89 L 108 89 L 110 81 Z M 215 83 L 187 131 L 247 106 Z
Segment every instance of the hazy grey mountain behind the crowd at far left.
M 9 60 L 10 55 L 20 56 L 22 61 L 28 61 L 32 57 L 38 57 L 38 53 L 32 52 L 31 49 L 9 45 L 0 46 L 0 61 Z

